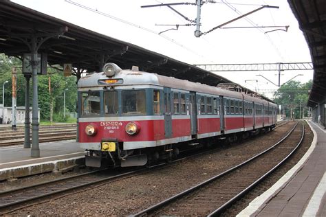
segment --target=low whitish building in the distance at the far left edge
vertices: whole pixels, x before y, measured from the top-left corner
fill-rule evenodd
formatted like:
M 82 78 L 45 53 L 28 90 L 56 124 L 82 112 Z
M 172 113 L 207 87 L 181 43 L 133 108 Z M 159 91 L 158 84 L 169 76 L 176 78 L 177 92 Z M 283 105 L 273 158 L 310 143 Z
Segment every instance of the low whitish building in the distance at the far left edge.
M 40 109 L 39 109 L 40 121 Z M 25 106 L 16 107 L 16 124 L 25 122 Z M 30 122 L 32 123 L 32 107 L 30 107 Z M 12 124 L 12 107 L 2 107 L 0 104 L 0 124 Z

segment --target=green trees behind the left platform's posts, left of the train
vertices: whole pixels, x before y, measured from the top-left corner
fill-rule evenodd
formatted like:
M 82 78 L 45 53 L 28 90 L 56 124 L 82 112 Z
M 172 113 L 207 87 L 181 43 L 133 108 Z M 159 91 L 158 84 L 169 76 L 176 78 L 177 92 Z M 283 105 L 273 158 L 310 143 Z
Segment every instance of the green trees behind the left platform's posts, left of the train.
M 5 84 L 5 106 L 12 106 L 12 67 L 17 67 L 17 106 L 25 106 L 25 78 L 21 72 L 21 60 L 18 58 L 8 58 L 0 54 L 0 85 L 2 104 L 2 84 Z M 51 77 L 51 92 L 49 92 L 49 77 Z M 63 91 L 66 91 L 65 105 L 66 116 L 63 117 Z M 38 76 L 39 108 L 41 120 L 50 120 L 51 96 L 53 100 L 53 120 L 54 122 L 64 122 L 70 112 L 76 112 L 77 85 L 76 76 L 64 77 L 62 71 L 47 69 L 46 76 Z M 32 78 L 30 79 L 30 106 L 32 106 Z

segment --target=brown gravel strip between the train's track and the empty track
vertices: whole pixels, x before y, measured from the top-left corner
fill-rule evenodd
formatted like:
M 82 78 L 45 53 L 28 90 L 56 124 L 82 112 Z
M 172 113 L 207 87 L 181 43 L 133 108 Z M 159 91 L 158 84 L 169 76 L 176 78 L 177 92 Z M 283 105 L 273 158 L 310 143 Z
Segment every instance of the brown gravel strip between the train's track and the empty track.
M 10 214 L 14 216 L 121 216 L 134 214 L 223 172 L 231 165 L 236 165 L 244 159 L 252 157 L 255 153 L 278 141 L 292 124 L 281 126 L 268 134 L 255 137 L 242 144 L 228 146 L 206 157 L 177 163 L 169 168 L 154 170 L 87 190 L 80 190 L 60 198 L 52 198 L 44 203 L 25 207 Z M 310 139 L 312 139 L 312 135 Z M 309 146 L 308 141 L 306 146 Z M 288 169 L 285 169 L 285 172 Z M 274 180 L 269 181 L 270 185 L 277 179 L 279 176 L 275 176 Z M 245 203 L 248 202 L 243 202 L 243 204 Z

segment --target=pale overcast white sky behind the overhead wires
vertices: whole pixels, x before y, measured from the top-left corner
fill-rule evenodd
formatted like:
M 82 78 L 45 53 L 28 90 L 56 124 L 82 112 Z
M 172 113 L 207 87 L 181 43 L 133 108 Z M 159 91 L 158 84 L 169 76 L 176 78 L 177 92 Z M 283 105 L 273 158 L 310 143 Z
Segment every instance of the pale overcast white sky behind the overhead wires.
M 153 52 L 164 54 L 189 64 L 224 63 L 263 63 L 263 62 L 311 62 L 305 38 L 298 29 L 290 7 L 285 0 L 217 0 L 202 6 L 201 31 L 207 32 L 213 27 L 235 19 L 260 8 L 261 5 L 279 6 L 279 9 L 264 8 L 225 27 L 290 25 L 287 32 L 275 31 L 275 28 L 217 29 L 200 38 L 194 36 L 195 26 L 182 26 L 190 23 L 167 7 L 140 8 L 141 5 L 173 3 L 169 0 L 14 0 L 28 8 L 38 10 L 69 23 L 74 23 L 94 32 L 105 34 L 121 41 L 133 43 Z M 186 1 L 184 1 L 186 2 Z M 195 3 L 195 0 L 188 0 Z M 230 3 L 230 4 L 228 4 Z M 175 5 L 175 10 L 195 20 L 195 5 Z M 158 24 L 158 25 L 157 25 Z M 175 26 L 178 30 L 164 30 Z M 225 72 L 218 73 L 233 82 L 249 89 L 265 93 L 277 89 L 262 77 L 262 74 L 274 83 L 278 82 L 277 71 L 266 72 Z M 281 84 L 299 73 L 295 80 L 307 82 L 312 79 L 312 71 L 283 71 Z M 258 80 L 252 82 L 246 80 Z

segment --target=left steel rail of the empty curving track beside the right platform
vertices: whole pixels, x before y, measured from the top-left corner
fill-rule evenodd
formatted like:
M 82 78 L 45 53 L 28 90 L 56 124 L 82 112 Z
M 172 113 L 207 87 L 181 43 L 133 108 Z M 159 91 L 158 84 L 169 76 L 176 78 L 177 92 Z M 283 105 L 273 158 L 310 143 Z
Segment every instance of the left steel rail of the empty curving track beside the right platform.
M 132 214 L 131 216 L 146 216 L 147 214 L 154 212 L 155 210 L 160 209 L 161 207 L 164 207 L 165 205 L 172 203 L 173 201 L 176 201 L 179 198 L 182 198 L 182 196 L 185 196 L 187 194 L 195 192 L 195 190 L 198 190 L 199 188 L 204 187 L 204 186 L 208 185 L 209 183 L 212 183 L 213 181 L 221 178 L 222 176 L 225 176 L 226 174 L 228 174 L 234 170 L 237 170 L 238 168 L 241 168 L 241 166 L 246 165 L 247 163 L 253 161 L 254 159 L 257 159 L 261 155 L 264 155 L 266 152 L 272 150 L 273 148 L 275 148 L 276 146 L 281 144 L 281 142 L 284 141 L 285 139 L 287 139 L 287 137 L 294 131 L 294 128 L 296 128 L 297 124 L 298 123 L 296 123 L 294 125 L 294 127 L 285 135 L 285 137 L 283 137 L 281 140 L 277 141 L 276 144 L 274 144 L 270 148 L 264 150 L 263 152 L 260 152 L 258 155 L 255 155 L 254 157 L 251 157 L 250 159 L 243 161 L 243 163 L 240 163 L 233 168 L 230 168 L 224 172 L 221 172 L 221 174 L 218 174 L 217 176 L 213 176 L 212 178 L 189 188 L 188 190 L 184 190 L 183 192 L 176 194 L 175 196 L 171 196 L 170 198 L 167 198 L 166 200 L 161 201 L 160 203 L 157 203 L 151 207 L 148 207 L 148 208 L 138 212 L 137 214 Z

